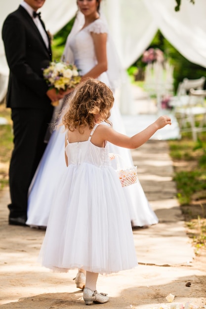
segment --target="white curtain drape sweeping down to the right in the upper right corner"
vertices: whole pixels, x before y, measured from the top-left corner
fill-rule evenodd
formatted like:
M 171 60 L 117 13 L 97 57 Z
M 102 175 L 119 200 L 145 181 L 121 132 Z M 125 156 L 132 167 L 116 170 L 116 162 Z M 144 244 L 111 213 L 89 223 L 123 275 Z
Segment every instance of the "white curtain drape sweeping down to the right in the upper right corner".
M 189 61 L 206 68 L 206 0 L 143 0 L 164 37 Z

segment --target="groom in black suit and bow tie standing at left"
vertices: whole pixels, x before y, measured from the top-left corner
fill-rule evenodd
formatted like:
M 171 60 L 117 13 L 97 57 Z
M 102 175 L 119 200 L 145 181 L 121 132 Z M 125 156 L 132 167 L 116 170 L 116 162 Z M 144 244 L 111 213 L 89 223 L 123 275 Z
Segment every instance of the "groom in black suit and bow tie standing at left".
M 51 61 L 49 37 L 37 14 L 44 2 L 22 1 L 2 27 L 10 69 L 6 105 L 11 108 L 14 134 L 9 167 L 11 225 L 26 224 L 28 189 L 46 146 L 44 136 L 53 113 L 51 101 L 63 97 L 48 89 L 42 76 L 42 68 Z

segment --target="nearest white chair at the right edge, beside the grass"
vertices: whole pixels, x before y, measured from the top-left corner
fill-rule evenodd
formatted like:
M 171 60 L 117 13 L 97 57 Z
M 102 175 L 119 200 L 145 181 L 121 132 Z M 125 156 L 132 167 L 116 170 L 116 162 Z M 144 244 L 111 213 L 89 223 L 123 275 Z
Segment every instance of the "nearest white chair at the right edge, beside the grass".
M 181 132 L 192 132 L 194 141 L 197 135 L 206 131 L 206 90 L 190 89 L 187 103 L 176 109 L 177 116 L 180 118 Z

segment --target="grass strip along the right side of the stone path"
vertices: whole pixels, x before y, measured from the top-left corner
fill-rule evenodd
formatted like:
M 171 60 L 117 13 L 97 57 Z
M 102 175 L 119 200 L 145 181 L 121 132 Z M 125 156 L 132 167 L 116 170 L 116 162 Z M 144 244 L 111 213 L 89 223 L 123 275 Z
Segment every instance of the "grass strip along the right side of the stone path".
M 168 141 L 174 165 L 177 198 L 195 253 L 206 249 L 206 132 L 197 142 L 191 134 Z

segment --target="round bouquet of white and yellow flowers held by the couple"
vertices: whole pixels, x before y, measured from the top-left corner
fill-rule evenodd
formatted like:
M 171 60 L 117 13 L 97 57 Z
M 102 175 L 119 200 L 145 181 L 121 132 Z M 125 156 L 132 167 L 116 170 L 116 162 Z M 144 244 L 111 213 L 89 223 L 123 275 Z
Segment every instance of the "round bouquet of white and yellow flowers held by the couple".
M 66 62 L 50 62 L 49 66 L 43 69 L 43 77 L 49 88 L 55 88 L 57 93 L 73 88 L 81 81 L 77 67 Z M 58 104 L 59 101 L 52 102 L 53 106 Z

